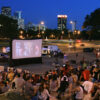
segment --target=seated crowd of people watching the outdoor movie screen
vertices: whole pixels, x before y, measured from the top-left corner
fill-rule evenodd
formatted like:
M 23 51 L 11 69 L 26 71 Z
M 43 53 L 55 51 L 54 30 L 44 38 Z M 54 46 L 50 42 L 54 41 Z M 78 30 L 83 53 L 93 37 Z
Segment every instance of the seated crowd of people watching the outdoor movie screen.
M 42 75 L 6 67 L 0 72 L 0 94 L 9 91 L 26 100 L 100 100 L 100 61 L 74 67 L 67 59 Z

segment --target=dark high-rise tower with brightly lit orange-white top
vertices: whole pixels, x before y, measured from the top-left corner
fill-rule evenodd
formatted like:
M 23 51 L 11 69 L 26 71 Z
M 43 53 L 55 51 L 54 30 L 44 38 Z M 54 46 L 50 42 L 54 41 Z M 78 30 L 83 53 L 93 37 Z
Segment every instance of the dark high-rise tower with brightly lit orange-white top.
M 66 29 L 67 15 L 58 15 L 58 30 Z

